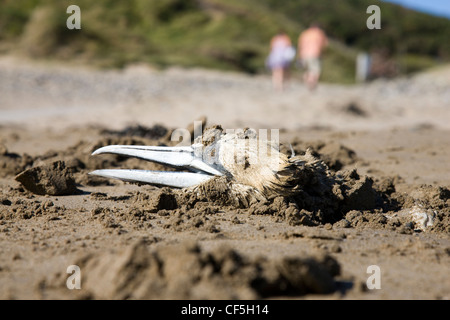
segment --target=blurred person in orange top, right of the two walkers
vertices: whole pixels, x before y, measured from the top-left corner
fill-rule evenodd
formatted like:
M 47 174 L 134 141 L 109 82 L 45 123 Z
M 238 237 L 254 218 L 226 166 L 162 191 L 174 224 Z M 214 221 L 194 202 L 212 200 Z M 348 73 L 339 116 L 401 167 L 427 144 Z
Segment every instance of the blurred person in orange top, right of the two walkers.
M 306 69 L 303 81 L 310 90 L 314 90 L 319 82 L 322 72 L 320 58 L 327 45 L 327 36 L 316 23 L 311 24 L 298 38 L 298 57 Z

